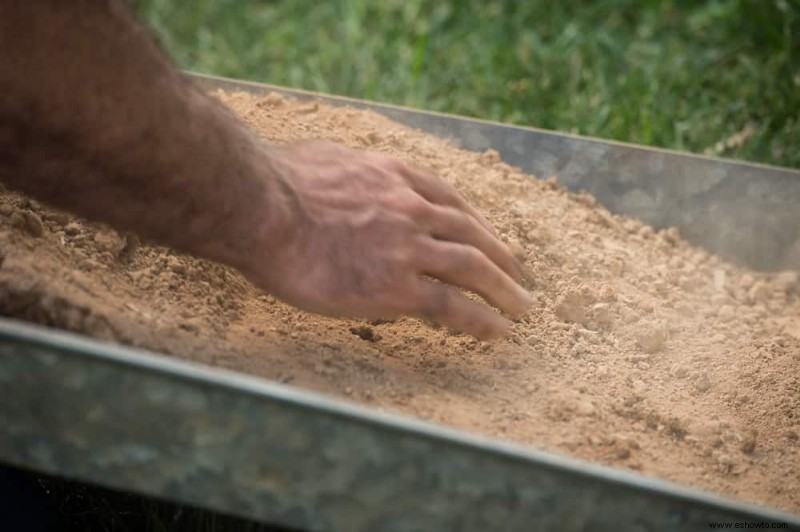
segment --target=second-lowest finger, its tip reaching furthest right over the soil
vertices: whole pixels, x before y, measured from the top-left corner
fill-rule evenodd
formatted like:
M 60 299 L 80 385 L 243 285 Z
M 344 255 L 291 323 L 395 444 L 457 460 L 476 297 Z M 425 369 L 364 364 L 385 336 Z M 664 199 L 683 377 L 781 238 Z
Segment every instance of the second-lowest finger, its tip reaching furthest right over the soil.
M 465 288 L 512 316 L 521 316 L 533 303 L 527 290 L 478 249 L 455 242 L 425 239 L 420 244 L 420 272 Z

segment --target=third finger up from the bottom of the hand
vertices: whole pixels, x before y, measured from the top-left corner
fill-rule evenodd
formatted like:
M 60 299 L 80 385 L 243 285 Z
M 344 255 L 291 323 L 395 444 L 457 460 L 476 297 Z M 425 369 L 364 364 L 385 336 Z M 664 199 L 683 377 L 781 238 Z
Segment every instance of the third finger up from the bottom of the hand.
M 475 218 L 454 209 L 432 205 L 426 223 L 434 238 L 469 244 L 479 249 L 516 282 L 522 281 L 522 266 L 511 254 L 508 246 L 498 240 Z

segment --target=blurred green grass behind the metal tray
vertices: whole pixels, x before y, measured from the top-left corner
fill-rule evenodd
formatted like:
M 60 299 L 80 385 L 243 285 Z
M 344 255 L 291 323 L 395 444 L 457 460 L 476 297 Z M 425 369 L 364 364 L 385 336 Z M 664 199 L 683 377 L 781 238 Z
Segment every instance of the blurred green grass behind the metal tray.
M 800 167 L 800 0 L 129 0 L 183 68 Z

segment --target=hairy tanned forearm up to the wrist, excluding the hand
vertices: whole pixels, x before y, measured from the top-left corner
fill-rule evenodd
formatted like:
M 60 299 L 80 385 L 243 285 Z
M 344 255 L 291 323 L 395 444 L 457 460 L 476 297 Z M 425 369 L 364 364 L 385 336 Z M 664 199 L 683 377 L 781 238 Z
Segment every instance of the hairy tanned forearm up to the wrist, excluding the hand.
M 114 0 L 0 3 L 0 180 L 237 267 L 280 233 L 268 149 Z

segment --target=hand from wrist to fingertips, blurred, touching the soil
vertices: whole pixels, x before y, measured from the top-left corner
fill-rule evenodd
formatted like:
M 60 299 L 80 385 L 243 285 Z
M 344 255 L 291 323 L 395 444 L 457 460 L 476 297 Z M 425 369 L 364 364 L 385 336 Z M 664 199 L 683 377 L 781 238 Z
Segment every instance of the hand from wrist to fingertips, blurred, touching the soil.
M 531 305 L 519 263 L 444 181 L 331 142 L 269 157 L 287 216 L 245 274 L 287 303 L 332 316 L 414 315 L 481 339 L 511 324 L 458 288 L 512 316 Z

